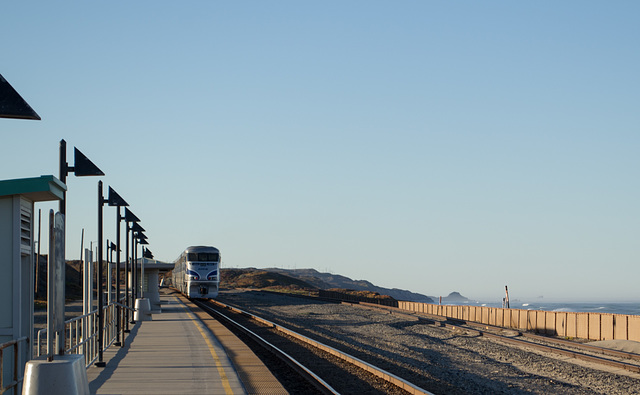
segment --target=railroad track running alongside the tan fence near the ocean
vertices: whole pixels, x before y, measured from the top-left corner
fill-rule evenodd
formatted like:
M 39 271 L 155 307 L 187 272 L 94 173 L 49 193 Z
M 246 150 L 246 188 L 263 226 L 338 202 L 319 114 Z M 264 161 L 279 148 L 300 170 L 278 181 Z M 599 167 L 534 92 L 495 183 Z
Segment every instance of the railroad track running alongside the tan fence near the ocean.
M 588 343 L 578 343 L 570 340 L 552 338 L 548 336 L 541 336 L 533 333 L 519 332 L 515 330 L 507 330 L 510 331 L 512 335 L 504 336 L 499 333 L 504 332 L 505 328 L 492 327 L 470 322 L 450 321 L 445 317 L 422 313 L 409 313 L 388 306 L 377 306 L 373 304 L 361 305 L 358 303 L 349 304 L 369 309 L 387 310 L 394 314 L 418 317 L 433 325 L 448 328 L 451 330 L 465 330 L 478 336 L 484 336 L 516 347 L 549 352 L 567 358 L 591 362 L 616 369 L 623 369 L 633 373 L 640 373 L 640 354 L 606 349 L 602 347 L 592 346 Z

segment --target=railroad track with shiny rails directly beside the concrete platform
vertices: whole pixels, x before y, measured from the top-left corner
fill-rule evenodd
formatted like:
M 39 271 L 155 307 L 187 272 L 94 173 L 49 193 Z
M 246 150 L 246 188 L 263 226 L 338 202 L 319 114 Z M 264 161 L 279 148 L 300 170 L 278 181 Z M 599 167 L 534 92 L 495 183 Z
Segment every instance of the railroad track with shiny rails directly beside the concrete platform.
M 218 301 L 193 302 L 232 331 L 241 332 L 276 355 L 319 393 L 431 394 L 383 369 L 255 314 Z

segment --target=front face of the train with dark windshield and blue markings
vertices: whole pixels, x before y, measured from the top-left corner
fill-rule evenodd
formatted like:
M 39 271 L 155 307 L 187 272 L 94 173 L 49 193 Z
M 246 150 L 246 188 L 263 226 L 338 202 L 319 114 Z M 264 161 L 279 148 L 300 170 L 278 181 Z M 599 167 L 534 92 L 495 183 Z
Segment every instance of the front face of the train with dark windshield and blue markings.
M 220 252 L 210 248 L 206 252 L 187 254 L 187 294 L 190 298 L 213 299 L 218 296 L 220 284 Z

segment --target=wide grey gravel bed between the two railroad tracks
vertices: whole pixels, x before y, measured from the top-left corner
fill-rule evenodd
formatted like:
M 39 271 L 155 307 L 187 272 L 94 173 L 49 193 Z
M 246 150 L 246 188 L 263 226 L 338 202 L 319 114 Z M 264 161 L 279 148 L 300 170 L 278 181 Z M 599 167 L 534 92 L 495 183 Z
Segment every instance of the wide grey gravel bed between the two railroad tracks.
M 220 301 L 316 338 L 436 394 L 634 394 L 640 375 L 576 365 L 550 354 L 425 325 L 415 317 L 262 292 Z

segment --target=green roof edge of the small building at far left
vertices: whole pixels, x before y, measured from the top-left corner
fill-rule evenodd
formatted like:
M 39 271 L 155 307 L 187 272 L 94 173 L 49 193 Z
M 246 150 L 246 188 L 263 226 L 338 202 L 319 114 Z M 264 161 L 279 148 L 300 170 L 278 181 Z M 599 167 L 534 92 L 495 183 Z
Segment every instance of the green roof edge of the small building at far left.
M 0 181 L 0 197 L 22 195 L 34 202 L 61 200 L 67 186 L 54 176 Z

